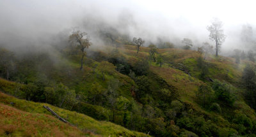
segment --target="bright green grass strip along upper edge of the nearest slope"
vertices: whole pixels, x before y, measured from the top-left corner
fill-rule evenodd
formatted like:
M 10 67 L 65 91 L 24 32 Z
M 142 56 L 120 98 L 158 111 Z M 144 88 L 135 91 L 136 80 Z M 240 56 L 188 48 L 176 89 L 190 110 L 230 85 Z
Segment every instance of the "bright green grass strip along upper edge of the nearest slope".
M 111 122 L 97 121 L 84 114 L 70 112 L 68 110 L 63 110 L 61 108 L 57 108 L 55 106 L 48 105 L 45 103 L 35 103 L 33 101 L 16 99 L 15 97 L 3 94 L 2 92 L 0 93 L 0 103 L 12 106 L 13 108 L 22 110 L 24 112 L 31 113 L 31 115 L 47 115 L 47 117 L 50 117 L 52 114 L 48 112 L 45 108 L 43 108 L 43 105 L 49 106 L 52 110 L 54 110 L 54 112 L 58 113 L 60 117 L 63 117 L 63 119 L 68 120 L 68 122 L 70 122 L 74 126 L 77 126 L 77 128 L 80 129 L 81 131 L 99 134 L 100 136 L 145 136 L 145 134 L 143 133 L 129 131 L 128 129 L 125 129 L 122 126 L 118 126 Z M 13 103 L 13 105 L 11 105 L 11 103 Z M 40 117 L 38 119 L 40 119 Z M 61 122 L 58 123 L 62 124 Z M 43 127 L 44 125 L 42 125 L 42 128 Z M 38 130 L 39 129 L 40 127 L 38 127 Z

